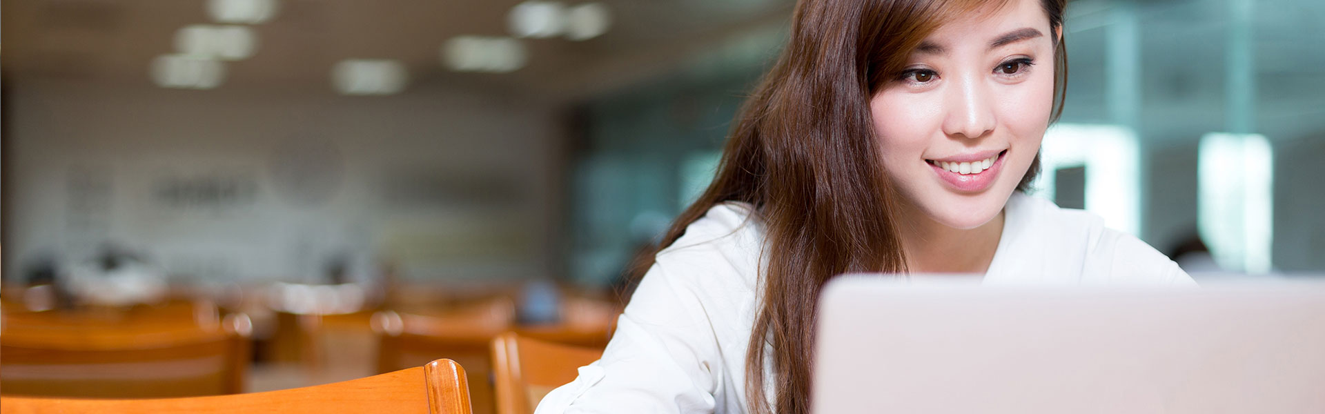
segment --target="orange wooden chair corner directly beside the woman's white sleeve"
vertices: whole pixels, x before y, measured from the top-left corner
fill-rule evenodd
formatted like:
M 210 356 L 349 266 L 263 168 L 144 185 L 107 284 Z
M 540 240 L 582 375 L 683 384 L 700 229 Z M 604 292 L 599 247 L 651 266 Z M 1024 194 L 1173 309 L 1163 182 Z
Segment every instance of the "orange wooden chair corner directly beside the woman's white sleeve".
M 530 414 L 553 389 L 575 380 L 579 368 L 603 357 L 583 348 L 522 337 L 514 332 L 492 342 L 497 414 Z

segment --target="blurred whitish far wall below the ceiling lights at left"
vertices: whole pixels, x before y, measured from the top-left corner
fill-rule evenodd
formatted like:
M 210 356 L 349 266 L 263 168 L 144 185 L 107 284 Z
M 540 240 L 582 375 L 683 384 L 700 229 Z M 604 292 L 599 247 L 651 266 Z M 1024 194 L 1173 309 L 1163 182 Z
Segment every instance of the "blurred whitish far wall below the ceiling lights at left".
M 394 97 L 5 88 L 7 277 L 37 253 L 69 263 L 103 242 L 205 280 L 311 281 L 341 252 L 356 277 L 382 260 L 404 277 L 550 271 L 559 133 L 549 105 L 440 86 Z M 160 196 L 199 180 L 252 191 L 228 203 Z

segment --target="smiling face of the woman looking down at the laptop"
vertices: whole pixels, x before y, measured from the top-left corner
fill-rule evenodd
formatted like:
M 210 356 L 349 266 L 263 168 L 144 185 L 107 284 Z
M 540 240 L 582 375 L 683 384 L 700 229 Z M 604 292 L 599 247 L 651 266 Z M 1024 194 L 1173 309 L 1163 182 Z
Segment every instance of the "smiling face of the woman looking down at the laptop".
M 1048 127 L 1056 40 L 1039 0 L 1011 0 L 939 27 L 871 100 L 912 208 L 954 228 L 998 216 Z

